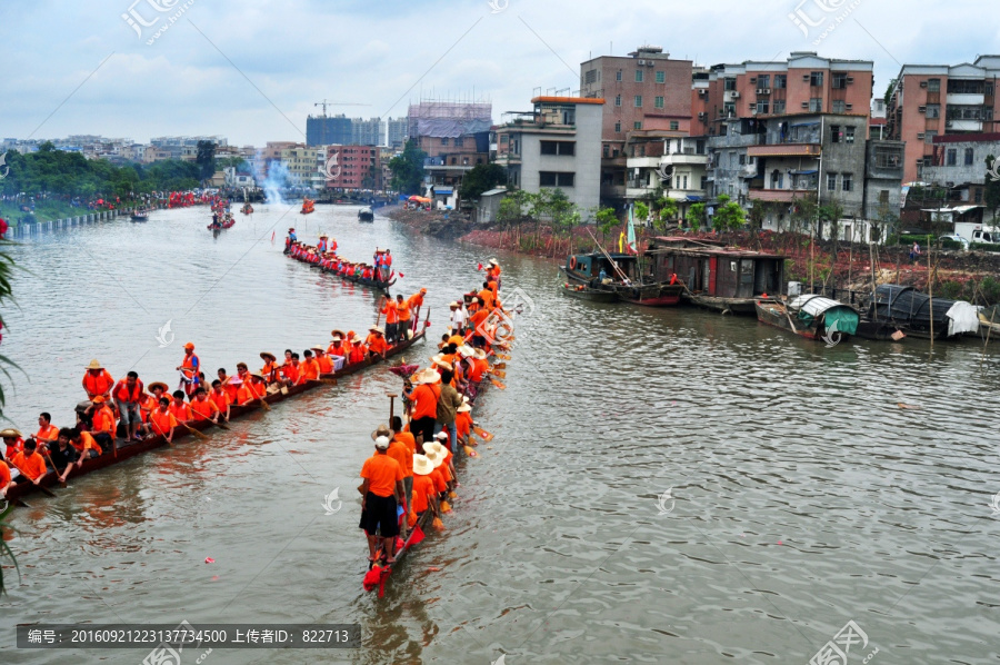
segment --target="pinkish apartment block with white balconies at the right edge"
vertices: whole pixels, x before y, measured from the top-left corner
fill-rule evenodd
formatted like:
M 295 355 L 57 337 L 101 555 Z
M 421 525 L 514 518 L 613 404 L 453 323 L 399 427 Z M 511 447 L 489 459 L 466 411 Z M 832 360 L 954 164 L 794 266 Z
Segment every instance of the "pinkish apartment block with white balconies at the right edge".
M 1000 56 L 972 64 L 903 64 L 889 98 L 887 132 L 906 141 L 907 182 L 933 163 L 934 137 L 1000 131 L 997 78 Z

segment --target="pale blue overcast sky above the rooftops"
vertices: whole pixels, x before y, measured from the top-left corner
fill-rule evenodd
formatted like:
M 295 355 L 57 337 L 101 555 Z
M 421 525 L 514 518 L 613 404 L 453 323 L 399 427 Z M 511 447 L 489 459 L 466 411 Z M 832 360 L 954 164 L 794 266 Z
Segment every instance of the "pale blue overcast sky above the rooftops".
M 368 118 L 404 116 L 421 96 L 474 95 L 500 120 L 530 108 L 537 88 L 576 91 L 589 57 L 642 43 L 699 64 L 793 50 L 870 59 L 877 95 L 900 63 L 1000 53 L 996 0 L 133 1 L 0 4 L 0 137 L 221 135 L 259 146 L 303 141 L 322 99 L 370 105 L 329 110 Z M 848 16 L 817 46 L 822 29 L 803 34 L 789 18 L 797 9 L 813 22 Z

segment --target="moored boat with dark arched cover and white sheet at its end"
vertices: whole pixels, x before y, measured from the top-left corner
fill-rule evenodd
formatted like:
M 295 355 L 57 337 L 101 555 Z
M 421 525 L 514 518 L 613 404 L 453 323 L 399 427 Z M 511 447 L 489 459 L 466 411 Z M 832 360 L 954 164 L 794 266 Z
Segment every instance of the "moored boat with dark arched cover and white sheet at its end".
M 899 284 L 876 288 L 863 320 L 891 325 L 909 337 L 923 339 L 930 339 L 932 330 L 934 339 L 947 339 L 978 332 L 980 326 L 979 310 L 971 302 L 931 298 Z

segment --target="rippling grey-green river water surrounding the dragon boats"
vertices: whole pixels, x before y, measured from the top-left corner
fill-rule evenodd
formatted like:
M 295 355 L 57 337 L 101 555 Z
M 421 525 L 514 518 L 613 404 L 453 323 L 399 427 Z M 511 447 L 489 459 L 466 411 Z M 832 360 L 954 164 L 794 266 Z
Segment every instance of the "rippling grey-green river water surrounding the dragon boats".
M 286 259 L 289 226 L 348 257 L 391 247 L 440 337 L 491 255 L 356 212 L 260 206 L 213 238 L 203 208 L 159 211 L 26 241 L 2 349 L 27 378 L 4 414 L 70 424 L 91 358 L 174 385 L 188 340 L 232 371 L 363 330 L 373 294 Z M 18 623 L 182 621 L 362 628 L 354 651 L 209 664 L 807 663 L 851 621 L 849 663 L 1000 661 L 996 353 L 827 349 L 751 318 L 569 299 L 551 262 L 499 258 L 524 307 L 508 389 L 477 409 L 496 439 L 383 599 L 361 589 L 354 490 L 400 387 L 377 369 L 32 497 L 12 517 L 0 662 L 146 655 L 17 649 Z

